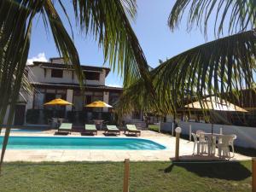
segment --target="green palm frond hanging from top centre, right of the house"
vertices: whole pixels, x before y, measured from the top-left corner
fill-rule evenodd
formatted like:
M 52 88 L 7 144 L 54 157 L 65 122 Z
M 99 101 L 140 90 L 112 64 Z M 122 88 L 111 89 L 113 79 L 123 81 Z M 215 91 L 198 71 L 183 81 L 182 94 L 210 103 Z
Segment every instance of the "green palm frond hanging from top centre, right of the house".
M 127 14 L 134 17 L 134 0 L 79 1 L 73 8 L 81 30 L 90 32 L 102 46 L 105 61 L 124 76 L 124 86 L 133 79 L 148 79 L 148 64 Z

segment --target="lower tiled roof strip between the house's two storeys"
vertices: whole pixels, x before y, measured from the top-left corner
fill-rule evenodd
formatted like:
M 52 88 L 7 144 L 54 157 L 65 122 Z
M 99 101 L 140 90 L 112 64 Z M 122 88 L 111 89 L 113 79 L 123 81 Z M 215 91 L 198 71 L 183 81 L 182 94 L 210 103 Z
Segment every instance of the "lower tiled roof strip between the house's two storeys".
M 79 89 L 79 84 L 66 84 L 66 83 L 40 83 L 40 82 L 32 82 L 31 84 L 41 87 L 58 87 L 61 89 Z M 85 90 L 114 90 L 121 92 L 123 88 L 120 87 L 112 87 L 107 85 L 95 85 L 95 84 L 86 84 Z

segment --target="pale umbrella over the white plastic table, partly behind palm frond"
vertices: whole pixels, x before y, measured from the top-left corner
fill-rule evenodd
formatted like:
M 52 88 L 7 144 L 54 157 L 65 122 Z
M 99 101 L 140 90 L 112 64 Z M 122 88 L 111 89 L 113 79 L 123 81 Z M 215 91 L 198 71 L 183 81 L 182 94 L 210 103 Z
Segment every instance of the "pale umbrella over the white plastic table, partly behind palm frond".
M 225 111 L 225 112 L 247 112 L 247 110 L 236 106 L 231 102 L 222 100 L 217 96 L 209 96 L 206 99 L 203 99 L 201 102 L 192 102 L 184 106 L 185 108 L 194 108 L 194 109 L 205 109 L 209 111 Z M 212 133 L 213 133 L 213 124 L 212 124 Z

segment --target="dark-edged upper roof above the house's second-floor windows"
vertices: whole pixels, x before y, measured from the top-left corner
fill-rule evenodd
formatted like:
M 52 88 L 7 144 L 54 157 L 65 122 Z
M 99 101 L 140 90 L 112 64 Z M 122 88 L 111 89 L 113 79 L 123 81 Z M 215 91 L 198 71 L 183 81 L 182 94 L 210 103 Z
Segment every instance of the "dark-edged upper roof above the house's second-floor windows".
M 33 61 L 34 66 L 40 65 L 42 68 L 51 68 L 51 69 L 62 69 L 62 70 L 74 70 L 73 65 L 69 64 L 61 64 L 61 63 L 55 63 L 55 62 L 44 62 L 44 61 Z M 30 65 L 29 67 L 33 67 Z M 106 70 L 106 77 L 108 76 L 108 73 L 110 72 L 109 67 L 96 67 L 96 66 L 80 66 L 83 71 L 90 71 L 90 72 L 97 72 L 102 73 L 103 69 Z

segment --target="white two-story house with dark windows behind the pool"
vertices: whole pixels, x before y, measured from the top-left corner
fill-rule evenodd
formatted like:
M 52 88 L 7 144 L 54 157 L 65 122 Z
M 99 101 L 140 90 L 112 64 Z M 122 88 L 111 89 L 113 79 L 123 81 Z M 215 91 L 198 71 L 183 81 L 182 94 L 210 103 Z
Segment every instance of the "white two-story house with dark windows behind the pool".
M 108 67 L 81 66 L 85 80 L 84 91 L 79 87 L 79 80 L 73 65 L 65 64 L 61 58 L 51 58 L 49 62 L 34 61 L 26 66 L 26 76 L 32 84 L 31 94 L 20 94 L 15 109 L 15 125 L 47 124 L 55 111 L 69 121 L 80 123 L 96 118 L 96 113 L 103 113 L 109 118 L 109 108 L 85 108 L 86 104 L 101 100 L 113 105 L 118 101 L 122 88 L 105 84 L 110 72 Z M 73 105 L 66 107 L 46 107 L 45 102 L 62 98 Z M 55 114 L 56 115 L 56 114 Z M 6 120 L 5 120 L 6 121 Z

